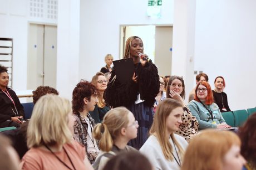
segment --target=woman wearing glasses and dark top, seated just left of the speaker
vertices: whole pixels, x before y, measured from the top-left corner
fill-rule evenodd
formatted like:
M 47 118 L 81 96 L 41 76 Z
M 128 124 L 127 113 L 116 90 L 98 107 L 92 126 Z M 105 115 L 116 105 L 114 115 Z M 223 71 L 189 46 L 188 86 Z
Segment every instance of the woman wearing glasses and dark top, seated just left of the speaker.
M 91 84 L 95 85 L 98 90 L 99 102 L 95 105 L 95 108 L 92 112 L 89 112 L 92 118 L 96 123 L 99 123 L 103 120 L 106 113 L 110 110 L 110 107 L 107 106 L 105 100 L 103 99 L 104 91 L 107 89 L 107 79 L 106 76 L 98 72 L 95 76 L 92 77 Z

